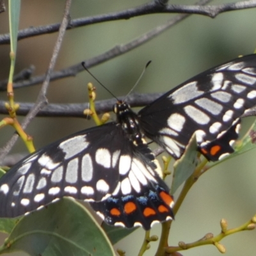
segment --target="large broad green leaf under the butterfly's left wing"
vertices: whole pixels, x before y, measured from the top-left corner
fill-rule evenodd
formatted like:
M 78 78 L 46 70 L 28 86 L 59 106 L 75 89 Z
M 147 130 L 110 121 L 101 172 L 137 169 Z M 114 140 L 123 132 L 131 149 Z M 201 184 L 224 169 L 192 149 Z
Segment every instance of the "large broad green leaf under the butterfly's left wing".
M 24 216 L 0 253 L 22 250 L 44 256 L 113 256 L 113 247 L 99 224 L 83 205 L 61 199 Z

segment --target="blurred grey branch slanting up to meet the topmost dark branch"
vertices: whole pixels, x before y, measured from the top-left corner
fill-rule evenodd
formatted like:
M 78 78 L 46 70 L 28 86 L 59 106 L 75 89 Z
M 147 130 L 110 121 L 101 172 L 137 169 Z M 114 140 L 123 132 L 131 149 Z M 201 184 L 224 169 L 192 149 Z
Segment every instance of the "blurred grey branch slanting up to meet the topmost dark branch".
M 198 4 L 205 4 L 208 3 L 211 0 L 201 0 L 198 2 Z M 152 40 L 156 36 L 160 35 L 166 29 L 171 28 L 178 22 L 180 22 L 183 19 L 186 19 L 189 17 L 189 14 L 180 14 L 172 19 L 168 20 L 165 24 L 162 24 L 160 26 L 157 26 L 156 28 L 152 29 L 151 31 L 141 35 L 139 38 L 136 38 L 135 40 L 132 40 L 131 42 L 128 42 L 124 45 L 116 45 L 109 51 L 104 52 L 103 54 L 100 54 L 98 56 L 95 56 L 89 60 L 84 61 L 87 68 L 94 67 L 95 65 L 99 65 L 100 63 L 104 63 L 105 61 L 111 60 L 115 58 L 116 56 L 120 56 L 124 54 L 125 52 L 129 52 L 132 49 L 135 49 L 136 47 L 139 47 L 142 44 L 145 44 L 149 40 Z M 81 61 L 82 62 L 82 61 Z M 61 79 L 64 77 L 70 77 L 70 76 L 76 76 L 78 72 L 84 71 L 84 68 L 82 67 L 80 63 L 77 63 L 76 65 L 72 65 L 67 68 L 63 68 L 62 70 L 52 72 L 51 74 L 51 81 Z M 20 83 L 13 84 L 13 88 L 22 88 L 26 86 L 31 86 L 34 84 L 42 83 L 44 81 L 45 75 L 35 76 L 31 77 L 31 79 L 22 81 Z M 6 83 L 4 81 L 0 81 L 0 91 L 6 90 Z

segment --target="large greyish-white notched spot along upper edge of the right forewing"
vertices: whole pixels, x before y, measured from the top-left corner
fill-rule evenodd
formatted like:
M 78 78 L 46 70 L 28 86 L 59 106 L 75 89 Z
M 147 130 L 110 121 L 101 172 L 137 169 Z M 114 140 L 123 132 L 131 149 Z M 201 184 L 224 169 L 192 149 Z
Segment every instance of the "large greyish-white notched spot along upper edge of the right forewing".
M 204 94 L 202 91 L 198 91 L 196 81 L 185 84 L 175 92 L 173 92 L 169 98 L 173 100 L 173 104 L 180 104 Z

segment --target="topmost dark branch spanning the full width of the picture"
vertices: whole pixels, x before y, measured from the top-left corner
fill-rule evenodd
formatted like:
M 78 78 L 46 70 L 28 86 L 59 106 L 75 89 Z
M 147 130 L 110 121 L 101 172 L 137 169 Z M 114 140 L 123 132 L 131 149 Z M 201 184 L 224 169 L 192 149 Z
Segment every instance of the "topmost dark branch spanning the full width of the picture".
M 135 8 L 130 8 L 121 12 L 112 12 L 108 14 L 95 15 L 86 18 L 70 20 L 67 29 L 78 28 L 81 26 L 92 25 L 100 22 L 111 20 L 131 19 L 141 15 L 148 15 L 153 13 L 188 13 L 200 14 L 207 17 L 214 18 L 223 12 L 230 12 L 234 10 L 243 10 L 247 8 L 256 7 L 256 1 L 240 1 L 237 3 L 218 4 L 200 6 L 195 5 L 181 5 L 181 4 L 163 4 L 166 1 L 152 1 L 152 3 L 143 4 Z M 39 26 L 36 28 L 26 28 L 19 31 L 18 40 L 28 38 L 31 36 L 44 35 L 55 33 L 60 29 L 60 23 L 50 24 L 47 26 Z M 0 36 L 0 44 L 10 44 L 10 35 L 4 34 Z

